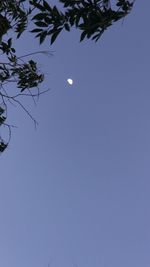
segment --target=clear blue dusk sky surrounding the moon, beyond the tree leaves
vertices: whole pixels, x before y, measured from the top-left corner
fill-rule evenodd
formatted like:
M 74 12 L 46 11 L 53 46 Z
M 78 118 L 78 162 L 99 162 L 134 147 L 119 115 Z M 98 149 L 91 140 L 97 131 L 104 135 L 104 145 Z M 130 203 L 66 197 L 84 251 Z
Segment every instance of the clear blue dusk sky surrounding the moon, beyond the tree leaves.
M 0 266 L 150 266 L 149 10 L 136 1 L 98 43 L 64 33 L 39 56 L 52 90 L 26 101 L 38 128 L 11 107 L 0 157 Z

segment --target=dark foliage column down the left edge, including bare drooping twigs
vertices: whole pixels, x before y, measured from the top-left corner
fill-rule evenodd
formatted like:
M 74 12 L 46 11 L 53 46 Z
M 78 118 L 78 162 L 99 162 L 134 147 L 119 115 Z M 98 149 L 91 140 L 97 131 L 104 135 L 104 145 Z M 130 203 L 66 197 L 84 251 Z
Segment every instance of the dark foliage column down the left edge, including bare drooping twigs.
M 11 125 L 6 124 L 8 104 L 20 105 L 28 113 L 20 101 L 20 96 L 33 97 L 30 89 L 38 88 L 44 80 L 43 74 L 38 71 L 37 63 L 33 59 L 25 61 L 24 56 L 18 57 L 13 47 L 13 41 L 19 39 L 27 29 L 29 16 L 33 12 L 33 8 L 30 5 L 25 7 L 24 2 L 27 1 L 0 1 L 0 126 L 9 130 L 7 141 L 0 135 L 0 152 L 7 147 L 11 135 Z

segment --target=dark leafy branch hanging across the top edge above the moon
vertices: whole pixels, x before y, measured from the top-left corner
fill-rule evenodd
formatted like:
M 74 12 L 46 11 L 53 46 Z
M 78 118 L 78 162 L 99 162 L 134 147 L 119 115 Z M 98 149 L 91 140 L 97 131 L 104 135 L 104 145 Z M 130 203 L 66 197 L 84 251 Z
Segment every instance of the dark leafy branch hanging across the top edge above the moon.
M 39 12 L 32 18 L 40 44 L 47 36 L 51 38 L 51 44 L 56 40 L 60 32 L 65 29 L 70 31 L 75 27 L 81 31 L 80 41 L 85 38 L 98 41 L 102 33 L 114 22 L 126 16 L 133 7 L 133 2 L 117 0 L 116 10 L 106 9 L 103 0 L 60 0 L 63 10 L 52 7 L 45 0 L 38 3 L 30 1 Z

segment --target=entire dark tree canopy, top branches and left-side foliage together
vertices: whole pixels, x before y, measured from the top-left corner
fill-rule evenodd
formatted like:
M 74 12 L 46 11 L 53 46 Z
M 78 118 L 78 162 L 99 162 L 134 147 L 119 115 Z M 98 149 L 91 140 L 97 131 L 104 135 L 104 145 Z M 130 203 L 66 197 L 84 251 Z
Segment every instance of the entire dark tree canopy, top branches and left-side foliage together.
M 78 29 L 80 41 L 85 38 L 98 41 L 105 30 L 114 22 L 128 15 L 135 2 L 116 0 L 111 8 L 110 0 L 59 0 L 62 9 L 51 6 L 45 0 L 4 0 L 0 1 L 0 127 L 9 130 L 9 138 L 4 141 L 0 135 L 0 152 L 3 152 L 10 140 L 11 125 L 6 123 L 8 104 L 15 103 L 32 118 L 32 115 L 20 101 L 21 96 L 39 96 L 39 85 L 44 75 L 39 72 L 37 62 L 26 56 L 18 56 L 14 40 L 19 41 L 27 31 L 42 44 L 50 38 L 53 44 L 63 30 Z M 29 25 L 30 23 L 30 25 Z M 10 92 L 10 83 L 14 91 Z M 36 92 L 34 90 L 37 90 Z M 33 119 L 33 118 L 32 118 Z M 34 120 L 34 119 L 33 119 Z

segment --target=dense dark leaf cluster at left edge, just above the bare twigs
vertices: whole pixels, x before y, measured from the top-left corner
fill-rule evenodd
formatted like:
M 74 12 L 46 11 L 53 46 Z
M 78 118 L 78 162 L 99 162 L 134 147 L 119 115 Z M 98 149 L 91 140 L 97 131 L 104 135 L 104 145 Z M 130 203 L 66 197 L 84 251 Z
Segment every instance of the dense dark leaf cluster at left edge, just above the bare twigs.
M 12 47 L 12 38 L 2 42 L 0 50 L 7 55 L 8 62 L 0 63 L 0 84 L 7 81 L 16 82 L 16 87 L 23 92 L 25 89 L 37 87 L 44 80 L 43 74 L 38 73 L 37 63 L 29 60 L 27 63 L 17 58 L 16 50 Z

